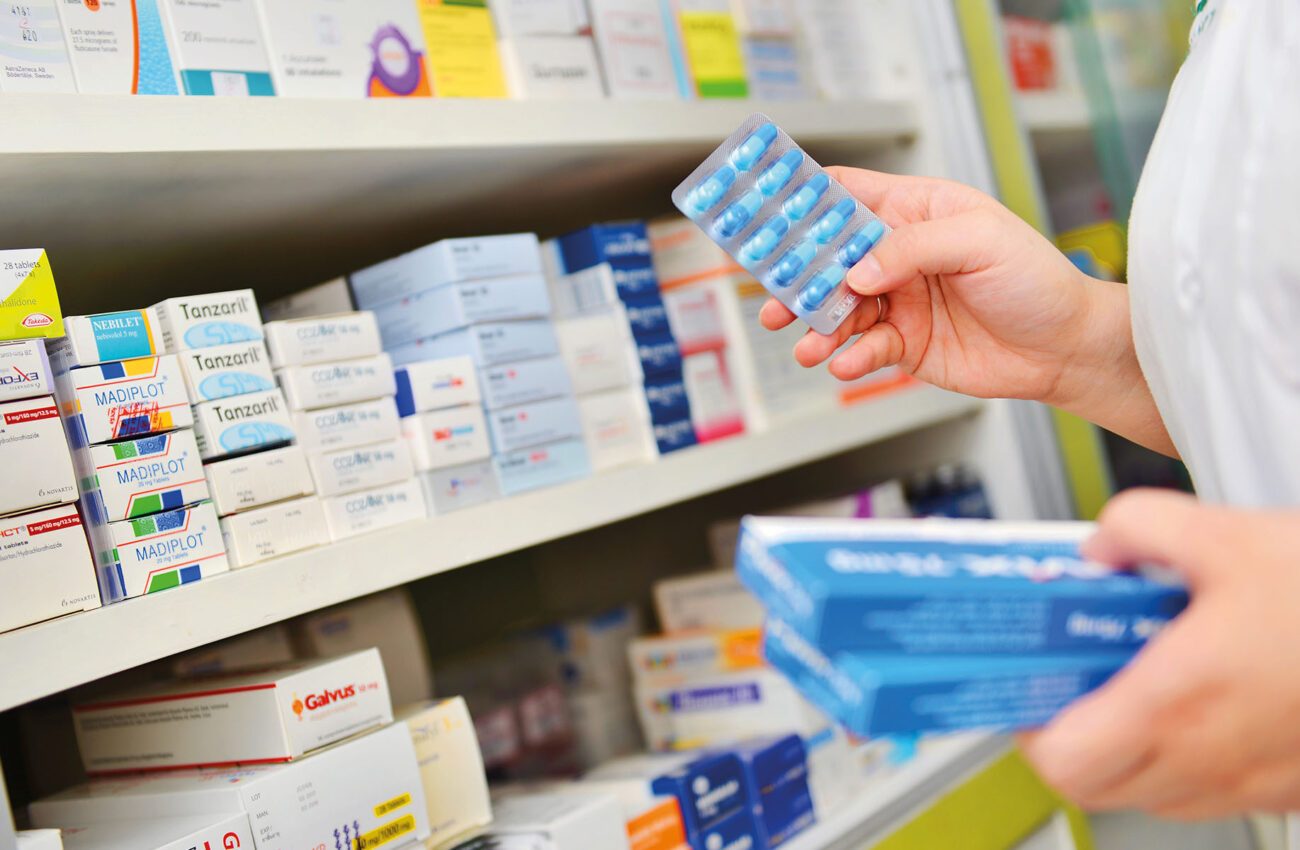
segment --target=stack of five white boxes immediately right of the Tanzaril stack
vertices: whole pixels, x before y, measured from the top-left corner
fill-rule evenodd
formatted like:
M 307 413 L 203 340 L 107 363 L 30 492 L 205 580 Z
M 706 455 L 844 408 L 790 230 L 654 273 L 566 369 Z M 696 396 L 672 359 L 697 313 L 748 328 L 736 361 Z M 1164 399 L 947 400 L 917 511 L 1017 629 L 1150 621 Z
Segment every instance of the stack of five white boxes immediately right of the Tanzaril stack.
M 266 343 L 330 539 L 424 519 L 424 494 L 398 429 L 393 361 L 381 350 L 374 313 L 268 322 Z

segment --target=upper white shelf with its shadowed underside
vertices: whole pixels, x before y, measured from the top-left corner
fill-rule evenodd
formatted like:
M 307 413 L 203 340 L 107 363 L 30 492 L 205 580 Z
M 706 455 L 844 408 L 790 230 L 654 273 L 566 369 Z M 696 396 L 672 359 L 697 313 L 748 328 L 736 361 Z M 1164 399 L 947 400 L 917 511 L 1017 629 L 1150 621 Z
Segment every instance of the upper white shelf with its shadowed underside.
M 909 143 L 916 104 L 0 94 L 4 246 L 49 251 L 70 312 L 252 279 L 264 296 L 445 235 L 671 209 L 748 114 L 828 161 Z

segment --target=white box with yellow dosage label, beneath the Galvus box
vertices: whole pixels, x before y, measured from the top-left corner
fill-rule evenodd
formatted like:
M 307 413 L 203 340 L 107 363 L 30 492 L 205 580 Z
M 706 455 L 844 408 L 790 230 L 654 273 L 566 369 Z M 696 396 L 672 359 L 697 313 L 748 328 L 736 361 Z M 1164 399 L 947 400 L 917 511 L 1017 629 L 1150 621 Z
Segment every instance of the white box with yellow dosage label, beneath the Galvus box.
M 304 799 L 309 794 L 309 801 Z M 429 837 L 420 769 L 404 724 L 287 764 L 159 771 L 103 779 L 31 803 L 38 824 L 104 824 L 243 812 L 256 850 L 399 847 Z M 338 833 L 338 838 L 334 833 Z M 188 850 L 188 849 L 186 849 Z

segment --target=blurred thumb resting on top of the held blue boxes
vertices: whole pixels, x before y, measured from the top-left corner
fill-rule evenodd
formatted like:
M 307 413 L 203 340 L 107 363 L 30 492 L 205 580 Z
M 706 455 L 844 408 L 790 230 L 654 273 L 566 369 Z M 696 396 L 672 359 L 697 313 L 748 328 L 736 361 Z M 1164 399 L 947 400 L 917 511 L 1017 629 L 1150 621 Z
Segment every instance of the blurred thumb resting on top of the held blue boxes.
M 1222 563 L 1218 515 L 1218 508 L 1183 493 L 1126 490 L 1106 504 L 1097 517 L 1097 533 L 1080 552 L 1114 567 L 1160 564 L 1202 586 Z

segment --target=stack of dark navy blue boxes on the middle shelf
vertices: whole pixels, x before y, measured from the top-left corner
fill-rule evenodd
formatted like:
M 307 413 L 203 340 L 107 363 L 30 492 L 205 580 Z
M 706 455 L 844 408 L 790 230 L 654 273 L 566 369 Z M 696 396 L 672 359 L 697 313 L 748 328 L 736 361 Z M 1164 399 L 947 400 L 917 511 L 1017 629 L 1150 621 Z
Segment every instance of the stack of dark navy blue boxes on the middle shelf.
M 682 381 L 681 351 L 659 295 L 645 222 L 592 225 L 560 237 L 555 250 L 558 257 L 552 260 L 562 273 L 606 266 L 612 278 L 641 361 L 659 454 L 694 446 L 697 438 Z

